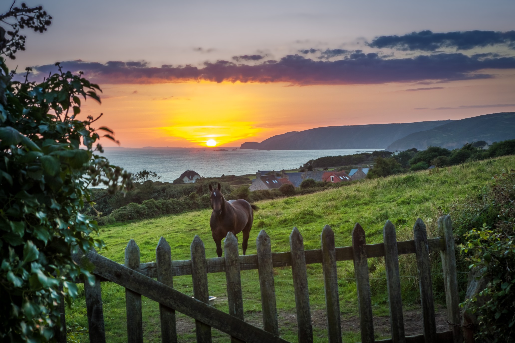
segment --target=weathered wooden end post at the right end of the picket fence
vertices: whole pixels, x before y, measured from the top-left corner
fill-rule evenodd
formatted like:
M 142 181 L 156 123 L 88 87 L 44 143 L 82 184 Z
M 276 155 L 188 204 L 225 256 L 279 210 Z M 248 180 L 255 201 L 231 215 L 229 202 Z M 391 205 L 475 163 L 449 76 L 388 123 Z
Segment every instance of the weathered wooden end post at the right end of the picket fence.
M 447 304 L 447 320 L 460 324 L 458 280 L 456 279 L 456 256 L 454 251 L 454 236 L 452 221 L 449 214 L 438 218 L 438 234 L 445 241 L 445 250 L 440 251 L 443 269 L 443 283 L 445 285 L 445 303 Z M 463 335 L 461 328 L 449 325 L 453 332 L 454 343 L 461 343 Z

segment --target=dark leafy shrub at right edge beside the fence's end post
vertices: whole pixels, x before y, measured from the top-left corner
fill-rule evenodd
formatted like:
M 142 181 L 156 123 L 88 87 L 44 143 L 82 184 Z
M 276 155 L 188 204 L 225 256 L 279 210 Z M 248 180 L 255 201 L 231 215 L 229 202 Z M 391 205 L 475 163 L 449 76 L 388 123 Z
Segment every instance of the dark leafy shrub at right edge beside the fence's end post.
M 494 178 L 485 202 L 467 206 L 455 224 L 458 237 L 465 233 L 461 256 L 488 281 L 462 304 L 477 316 L 476 338 L 508 342 L 515 337 L 515 171 Z

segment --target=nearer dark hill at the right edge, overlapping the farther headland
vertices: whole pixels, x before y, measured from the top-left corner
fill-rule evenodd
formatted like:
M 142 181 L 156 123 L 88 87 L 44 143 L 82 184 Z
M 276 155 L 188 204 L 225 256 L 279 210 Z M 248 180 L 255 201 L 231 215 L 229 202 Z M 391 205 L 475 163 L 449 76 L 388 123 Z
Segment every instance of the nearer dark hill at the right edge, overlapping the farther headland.
M 492 143 L 513 138 L 515 112 L 493 113 L 453 120 L 432 129 L 408 134 L 392 142 L 386 150 L 425 149 L 429 146 L 456 149 L 476 140 Z

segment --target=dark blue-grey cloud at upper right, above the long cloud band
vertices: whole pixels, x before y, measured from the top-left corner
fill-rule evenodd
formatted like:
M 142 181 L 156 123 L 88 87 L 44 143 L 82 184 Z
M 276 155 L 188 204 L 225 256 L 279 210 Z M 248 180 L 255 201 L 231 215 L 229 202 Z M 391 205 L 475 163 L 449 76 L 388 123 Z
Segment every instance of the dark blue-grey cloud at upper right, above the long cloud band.
M 398 50 L 435 51 L 441 48 L 468 50 L 478 47 L 506 44 L 515 49 L 515 31 L 456 31 L 434 33 L 429 30 L 405 35 L 383 35 L 375 38 L 369 46 Z

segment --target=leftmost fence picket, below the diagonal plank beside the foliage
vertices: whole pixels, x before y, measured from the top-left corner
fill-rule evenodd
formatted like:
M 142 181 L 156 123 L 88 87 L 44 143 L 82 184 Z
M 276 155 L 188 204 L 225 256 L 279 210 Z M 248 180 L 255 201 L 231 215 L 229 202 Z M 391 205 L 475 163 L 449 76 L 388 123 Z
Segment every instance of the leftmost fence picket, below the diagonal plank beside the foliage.
M 92 249 L 92 252 L 96 254 L 95 249 Z M 86 298 L 90 343 L 106 343 L 104 310 L 102 310 L 102 291 L 98 277 L 95 277 L 95 284 L 93 286 L 90 285 L 88 280 L 84 281 L 84 295 Z

